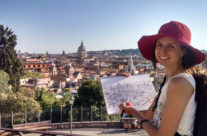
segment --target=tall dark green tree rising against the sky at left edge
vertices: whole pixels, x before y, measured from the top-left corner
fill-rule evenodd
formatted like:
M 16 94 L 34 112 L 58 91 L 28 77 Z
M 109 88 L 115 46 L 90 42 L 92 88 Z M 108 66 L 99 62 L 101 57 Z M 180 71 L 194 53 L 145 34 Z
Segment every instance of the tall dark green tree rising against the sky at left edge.
M 16 35 L 8 27 L 0 25 L 0 70 L 9 74 L 9 84 L 12 90 L 20 90 L 20 77 L 23 74 L 21 61 L 17 58 Z

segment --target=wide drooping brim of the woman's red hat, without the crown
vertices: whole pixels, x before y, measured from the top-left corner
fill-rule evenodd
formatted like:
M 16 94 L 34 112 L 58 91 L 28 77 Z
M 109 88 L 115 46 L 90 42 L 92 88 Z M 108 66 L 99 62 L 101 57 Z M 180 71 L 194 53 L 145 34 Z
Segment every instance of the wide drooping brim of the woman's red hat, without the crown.
M 150 36 L 142 36 L 140 38 L 140 40 L 138 41 L 138 48 L 142 54 L 143 57 L 145 57 L 147 60 L 151 60 L 153 58 L 153 50 L 154 50 L 154 46 L 155 46 L 155 42 L 164 37 L 164 35 L 161 34 L 156 34 L 156 35 L 150 35 Z M 172 37 L 170 37 L 172 38 Z M 174 39 L 174 38 L 173 38 Z M 176 39 L 175 39 L 176 40 Z M 178 40 L 176 40 L 178 41 Z M 181 41 L 178 41 L 181 45 L 186 46 L 188 48 L 190 48 L 196 57 L 196 64 L 201 63 L 202 61 L 204 61 L 205 59 L 205 54 L 202 53 L 201 51 L 199 51 L 198 49 L 194 48 L 191 45 L 185 45 L 183 44 Z

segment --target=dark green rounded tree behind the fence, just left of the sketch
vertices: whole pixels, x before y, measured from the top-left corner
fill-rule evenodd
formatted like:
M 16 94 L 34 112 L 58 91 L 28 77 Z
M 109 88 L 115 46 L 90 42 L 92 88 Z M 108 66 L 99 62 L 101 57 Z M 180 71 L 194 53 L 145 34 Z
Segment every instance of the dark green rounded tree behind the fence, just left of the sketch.
M 100 81 L 88 79 L 78 89 L 75 106 L 90 107 L 92 105 L 100 107 L 105 104 Z

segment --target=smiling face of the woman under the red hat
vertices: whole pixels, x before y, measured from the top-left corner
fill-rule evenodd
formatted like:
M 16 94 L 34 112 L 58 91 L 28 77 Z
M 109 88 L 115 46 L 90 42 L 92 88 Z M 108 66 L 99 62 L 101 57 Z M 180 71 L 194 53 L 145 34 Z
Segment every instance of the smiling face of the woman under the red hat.
M 166 68 L 180 67 L 184 51 L 181 45 L 168 37 L 163 37 L 157 40 L 155 45 L 156 60 Z

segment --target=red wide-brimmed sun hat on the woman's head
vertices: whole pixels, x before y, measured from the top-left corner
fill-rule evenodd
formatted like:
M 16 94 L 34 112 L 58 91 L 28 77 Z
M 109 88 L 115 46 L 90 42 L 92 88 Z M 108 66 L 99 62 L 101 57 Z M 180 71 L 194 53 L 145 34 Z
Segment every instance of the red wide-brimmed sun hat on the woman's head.
M 142 56 L 148 60 L 152 60 L 155 42 L 162 37 L 172 38 L 182 46 L 189 47 L 196 56 L 196 64 L 201 63 L 205 59 L 204 53 L 190 45 L 190 29 L 186 25 L 177 21 L 171 21 L 162 25 L 156 35 L 142 36 L 138 41 L 138 48 Z

